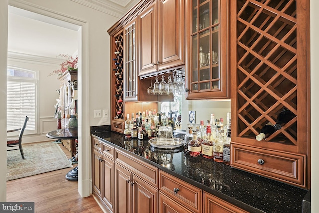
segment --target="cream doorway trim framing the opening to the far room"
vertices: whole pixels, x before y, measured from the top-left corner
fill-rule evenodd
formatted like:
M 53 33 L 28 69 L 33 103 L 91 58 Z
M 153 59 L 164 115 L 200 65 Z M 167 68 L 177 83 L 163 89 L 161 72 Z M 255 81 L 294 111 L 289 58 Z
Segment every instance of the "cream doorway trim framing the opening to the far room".
M 90 196 L 90 128 L 89 128 L 89 23 L 21 0 L 9 0 L 9 6 L 34 12 L 79 26 L 78 30 L 78 192 Z M 83 143 L 85 141 L 86 143 Z

